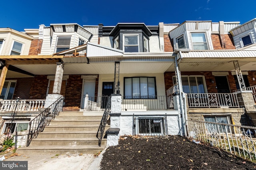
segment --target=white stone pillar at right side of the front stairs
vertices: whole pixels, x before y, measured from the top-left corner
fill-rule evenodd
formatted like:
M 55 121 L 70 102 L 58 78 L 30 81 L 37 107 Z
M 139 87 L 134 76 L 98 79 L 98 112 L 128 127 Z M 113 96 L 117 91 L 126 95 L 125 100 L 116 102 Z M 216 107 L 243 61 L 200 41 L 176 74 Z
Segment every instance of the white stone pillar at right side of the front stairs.
M 107 146 L 118 145 L 120 136 L 120 117 L 121 117 L 121 94 L 111 95 L 110 129 L 106 131 Z

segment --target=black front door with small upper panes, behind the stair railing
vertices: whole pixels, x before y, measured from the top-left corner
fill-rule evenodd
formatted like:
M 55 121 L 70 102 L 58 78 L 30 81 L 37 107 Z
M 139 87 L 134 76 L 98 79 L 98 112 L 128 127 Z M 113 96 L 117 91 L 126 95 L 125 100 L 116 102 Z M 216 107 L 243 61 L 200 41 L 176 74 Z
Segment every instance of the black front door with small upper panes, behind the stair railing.
M 102 82 L 102 103 L 101 108 L 105 108 L 108 103 L 108 96 L 114 93 L 114 82 Z

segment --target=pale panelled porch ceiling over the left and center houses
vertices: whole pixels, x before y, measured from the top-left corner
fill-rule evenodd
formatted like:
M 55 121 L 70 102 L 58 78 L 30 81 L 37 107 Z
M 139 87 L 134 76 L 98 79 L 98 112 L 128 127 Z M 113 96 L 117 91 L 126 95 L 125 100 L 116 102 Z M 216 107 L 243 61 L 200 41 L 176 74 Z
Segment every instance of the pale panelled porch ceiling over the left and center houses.
M 164 73 L 173 62 L 120 62 L 120 74 L 132 73 Z M 56 64 L 17 64 L 14 65 L 35 75 L 54 75 Z M 64 74 L 114 74 L 114 62 L 108 63 L 67 63 L 64 64 Z M 18 77 L 18 75 L 16 75 Z

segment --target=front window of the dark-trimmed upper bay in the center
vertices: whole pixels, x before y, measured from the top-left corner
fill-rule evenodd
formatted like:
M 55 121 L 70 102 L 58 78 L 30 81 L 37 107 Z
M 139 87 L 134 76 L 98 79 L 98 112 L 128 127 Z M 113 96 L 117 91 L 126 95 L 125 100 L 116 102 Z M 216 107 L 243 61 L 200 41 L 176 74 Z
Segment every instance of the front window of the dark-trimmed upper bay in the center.
M 139 52 L 139 35 L 124 35 L 124 52 Z

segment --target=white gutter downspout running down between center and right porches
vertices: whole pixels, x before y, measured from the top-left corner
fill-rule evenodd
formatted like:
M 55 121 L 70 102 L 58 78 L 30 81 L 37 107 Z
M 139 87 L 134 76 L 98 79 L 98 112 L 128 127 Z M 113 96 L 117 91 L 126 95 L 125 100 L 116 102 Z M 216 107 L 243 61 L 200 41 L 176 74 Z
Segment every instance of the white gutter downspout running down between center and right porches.
M 177 56 L 178 56 L 178 54 L 175 57 L 175 69 L 176 69 L 176 74 L 177 74 L 179 96 L 180 96 L 180 98 L 179 98 L 180 99 L 180 112 L 182 114 L 182 127 L 184 128 L 184 135 L 187 136 L 186 119 L 185 119 L 185 114 L 184 114 L 184 95 L 183 95 L 183 90 L 182 90 L 182 86 L 181 86 L 180 70 L 178 68 L 178 64 L 180 63 L 181 59 L 183 58 L 180 51 L 179 51 L 179 61 L 178 61 Z M 180 130 L 180 135 L 183 136 L 182 130 Z

